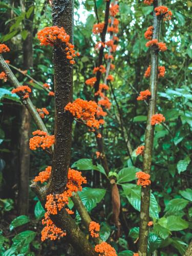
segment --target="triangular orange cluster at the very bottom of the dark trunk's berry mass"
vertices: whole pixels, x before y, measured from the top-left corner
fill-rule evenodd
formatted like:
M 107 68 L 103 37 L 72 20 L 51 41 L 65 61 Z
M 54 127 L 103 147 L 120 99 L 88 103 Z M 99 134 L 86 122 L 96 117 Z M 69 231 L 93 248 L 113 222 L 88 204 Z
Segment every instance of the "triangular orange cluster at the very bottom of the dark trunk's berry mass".
M 50 219 L 49 215 L 45 214 L 45 219 L 42 220 L 42 224 L 46 225 L 41 231 L 41 241 L 46 239 L 56 240 L 66 236 L 66 232 L 63 232 L 61 228 L 58 228 Z

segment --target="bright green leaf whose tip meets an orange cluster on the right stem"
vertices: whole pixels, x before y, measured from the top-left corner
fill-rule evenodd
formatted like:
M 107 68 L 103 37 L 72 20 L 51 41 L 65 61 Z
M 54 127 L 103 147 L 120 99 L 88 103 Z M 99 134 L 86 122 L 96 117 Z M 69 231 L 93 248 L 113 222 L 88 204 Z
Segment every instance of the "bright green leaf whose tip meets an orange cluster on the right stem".
M 139 172 L 140 169 L 134 166 L 122 168 L 117 176 L 117 182 L 129 182 L 136 179 L 136 173 Z

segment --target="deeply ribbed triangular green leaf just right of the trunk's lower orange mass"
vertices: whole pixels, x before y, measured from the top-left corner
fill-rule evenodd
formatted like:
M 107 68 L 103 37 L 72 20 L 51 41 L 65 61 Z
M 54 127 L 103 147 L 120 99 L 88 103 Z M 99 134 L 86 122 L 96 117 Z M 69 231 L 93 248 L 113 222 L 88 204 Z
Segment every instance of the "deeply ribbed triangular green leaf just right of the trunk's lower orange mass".
M 106 189 L 83 187 L 82 191 L 78 192 L 82 203 L 88 211 L 91 211 L 104 197 Z

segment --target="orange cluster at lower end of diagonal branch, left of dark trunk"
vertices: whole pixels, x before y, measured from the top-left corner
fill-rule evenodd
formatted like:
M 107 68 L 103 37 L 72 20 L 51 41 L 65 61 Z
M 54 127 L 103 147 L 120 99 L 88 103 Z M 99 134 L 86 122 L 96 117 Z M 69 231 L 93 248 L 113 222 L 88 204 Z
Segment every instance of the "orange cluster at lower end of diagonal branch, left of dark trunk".
M 37 147 L 42 147 L 43 150 L 52 146 L 55 142 L 54 135 L 47 135 L 46 132 L 37 130 L 32 133 L 34 135 L 33 138 L 29 140 L 29 148 L 30 150 L 36 150 Z

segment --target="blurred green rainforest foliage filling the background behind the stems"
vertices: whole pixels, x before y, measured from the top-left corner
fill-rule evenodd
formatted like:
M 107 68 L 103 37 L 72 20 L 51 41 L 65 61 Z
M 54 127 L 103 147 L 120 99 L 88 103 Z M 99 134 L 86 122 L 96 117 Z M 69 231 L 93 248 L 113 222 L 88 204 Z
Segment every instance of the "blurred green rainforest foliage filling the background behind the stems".
M 166 42 L 168 50 L 160 57 L 160 65 L 166 67 L 166 74 L 159 81 L 157 109 L 163 113 L 166 122 L 155 128 L 150 206 L 154 226 L 150 227 L 148 253 L 176 256 L 184 254 L 192 238 L 192 2 L 163 2 L 169 5 L 173 17 L 161 26 L 161 40 Z M 93 99 L 92 89 L 85 81 L 92 77 L 98 57 L 94 50 L 96 36 L 92 33 L 93 25 L 97 23 L 95 9 L 102 19 L 104 3 L 103 0 L 74 3 L 74 45 L 80 53 L 74 65 L 74 99 Z M 114 82 L 108 93 L 112 107 L 102 128 L 110 172 L 117 177 L 120 191 L 123 227 L 118 239 L 111 221 L 110 189 L 102 171 L 98 172 L 100 162 L 95 155 L 95 137 L 79 122 L 73 122 L 71 166 L 87 177 L 88 184 L 79 196 L 92 219 L 101 224 L 101 238 L 110 242 L 122 256 L 131 255 L 130 250 L 137 251 L 140 189 L 135 177 L 127 178 L 125 173 L 135 174 L 136 168 L 142 168 L 142 157 L 136 156 L 135 150 L 144 142 L 147 108 L 136 98 L 138 92 L 148 86 L 144 72 L 150 63 L 150 51 L 145 47 L 143 34 L 151 25 L 153 7 L 135 0 L 121 0 L 119 7 L 119 42 L 113 62 L 116 68 L 112 71 Z M 50 5 L 42 0 L 1 1 L 0 13 L 1 44 L 11 49 L 4 58 L 17 69 L 27 70 L 27 74 L 41 84 L 48 83 L 54 90 L 52 48 L 40 46 L 37 39 L 37 31 L 52 26 Z M 33 55 L 30 55 L 29 40 L 32 40 Z M 11 69 L 20 83 L 29 82 L 29 77 L 14 67 Z M 77 255 L 65 238 L 54 242 L 40 240 L 44 209 L 29 185 L 30 180 L 51 165 L 51 160 L 46 152 L 29 151 L 26 141 L 32 137 L 36 126 L 19 97 L 11 94 L 10 83 L 1 80 L 0 84 L 0 255 Z M 44 121 L 54 134 L 53 97 L 49 97 L 37 83 L 29 84 L 34 105 L 49 111 Z M 28 172 L 21 177 L 23 168 Z M 26 193 L 28 188 L 29 195 Z M 72 201 L 70 208 L 73 208 Z M 77 211 L 72 217 L 89 237 Z

